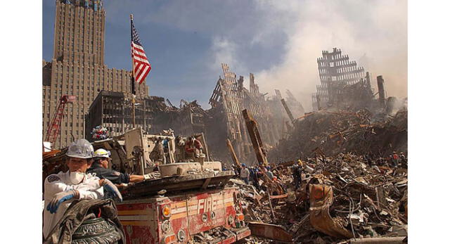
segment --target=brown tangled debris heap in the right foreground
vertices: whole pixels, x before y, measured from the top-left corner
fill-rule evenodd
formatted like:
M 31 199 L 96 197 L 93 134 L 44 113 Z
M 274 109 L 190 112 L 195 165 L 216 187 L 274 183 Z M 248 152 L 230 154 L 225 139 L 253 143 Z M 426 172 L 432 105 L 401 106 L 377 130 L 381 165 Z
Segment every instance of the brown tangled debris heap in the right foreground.
M 240 180 L 231 182 L 240 186 L 246 221 L 282 226 L 294 243 L 347 243 L 352 238 L 407 236 L 406 165 L 407 159 L 387 167 L 339 153 L 274 168 L 285 188 L 278 195 L 269 196 L 264 185 L 257 191 Z M 297 189 L 296 167 L 302 172 Z M 249 238 L 249 243 L 264 241 Z

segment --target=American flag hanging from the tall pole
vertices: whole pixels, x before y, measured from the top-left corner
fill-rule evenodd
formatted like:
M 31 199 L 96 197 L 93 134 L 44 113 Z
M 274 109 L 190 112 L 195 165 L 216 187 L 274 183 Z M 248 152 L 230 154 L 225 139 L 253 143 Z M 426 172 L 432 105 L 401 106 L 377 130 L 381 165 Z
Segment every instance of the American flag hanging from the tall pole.
M 146 79 L 148 72 L 152 69 L 146 52 L 143 51 L 141 40 L 139 39 L 138 32 L 133 25 L 133 19 L 131 18 L 131 59 L 133 60 L 133 76 L 134 80 L 141 84 Z

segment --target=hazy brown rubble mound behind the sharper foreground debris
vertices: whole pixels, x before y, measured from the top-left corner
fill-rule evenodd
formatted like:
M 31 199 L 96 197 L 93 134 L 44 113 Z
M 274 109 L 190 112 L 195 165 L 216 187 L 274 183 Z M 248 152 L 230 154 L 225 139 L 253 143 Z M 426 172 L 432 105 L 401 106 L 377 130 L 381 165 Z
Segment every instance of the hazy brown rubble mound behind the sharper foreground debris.
M 394 116 L 375 116 L 368 110 L 319 111 L 295 120 L 287 138 L 279 141 L 268 157 L 270 162 L 283 162 L 309 157 L 316 149 L 326 155 L 349 152 L 387 157 L 392 151 L 407 153 L 407 130 L 406 109 Z

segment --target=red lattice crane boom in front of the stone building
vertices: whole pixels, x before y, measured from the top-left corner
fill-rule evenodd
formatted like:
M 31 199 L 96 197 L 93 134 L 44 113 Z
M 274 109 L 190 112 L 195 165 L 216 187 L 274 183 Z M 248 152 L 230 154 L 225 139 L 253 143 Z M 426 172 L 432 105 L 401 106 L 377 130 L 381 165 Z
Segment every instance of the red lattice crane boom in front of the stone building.
M 64 117 L 64 108 L 66 103 L 73 103 L 77 99 L 77 96 L 63 95 L 59 98 L 58 106 L 56 106 L 55 114 L 51 119 L 49 127 L 47 127 L 47 134 L 45 136 L 45 141 L 50 141 L 50 143 L 55 143 L 61 130 L 61 121 Z

